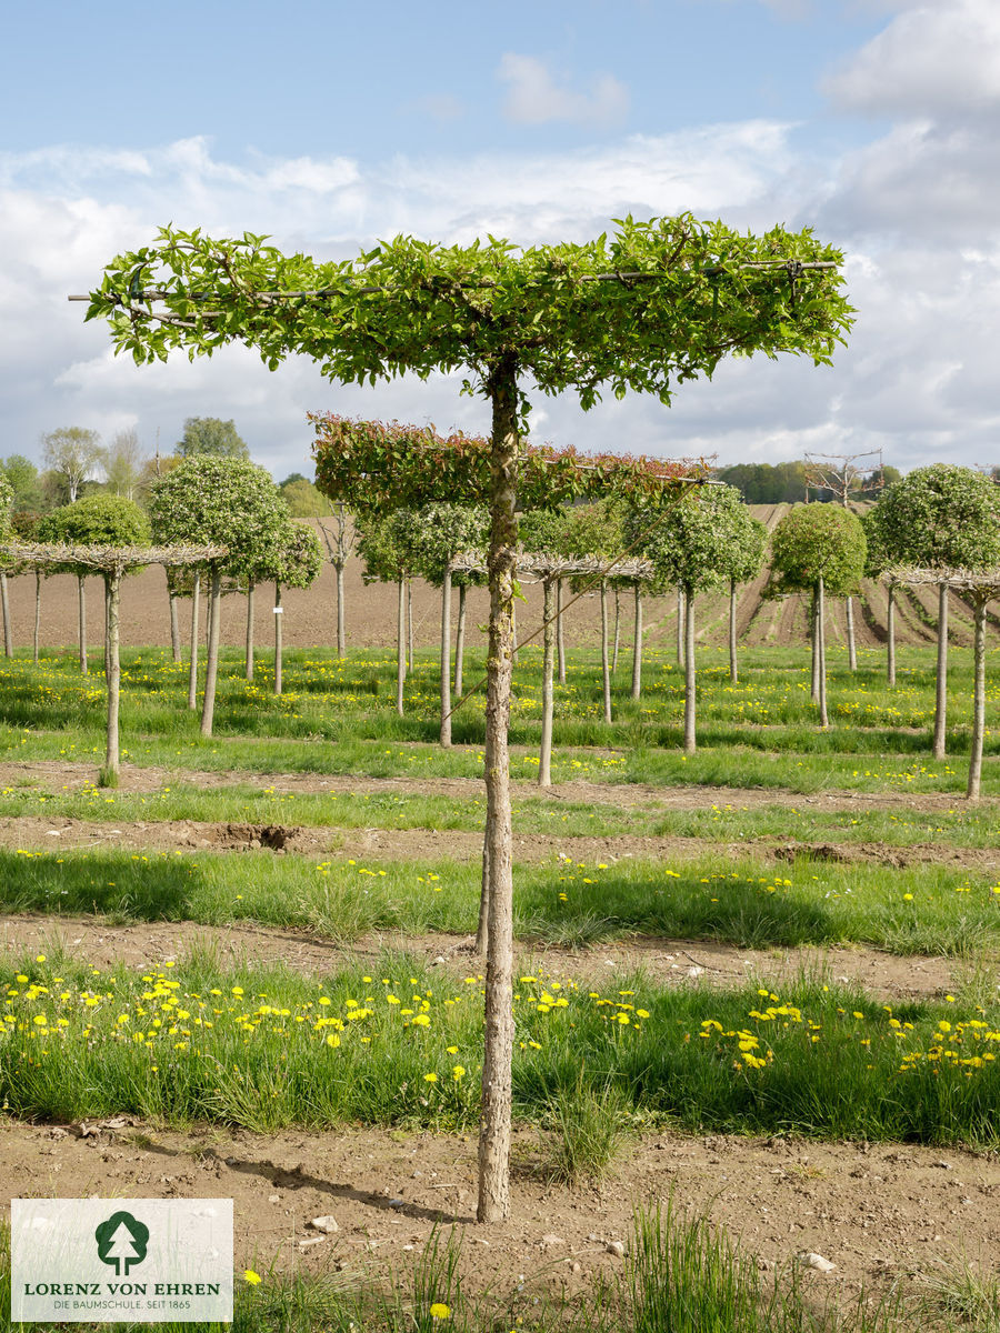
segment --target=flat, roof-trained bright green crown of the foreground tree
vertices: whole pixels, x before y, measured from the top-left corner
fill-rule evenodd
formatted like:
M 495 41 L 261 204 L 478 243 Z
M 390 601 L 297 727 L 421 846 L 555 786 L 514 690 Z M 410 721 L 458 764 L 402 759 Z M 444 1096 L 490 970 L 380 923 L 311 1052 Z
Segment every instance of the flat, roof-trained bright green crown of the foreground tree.
M 525 249 L 396 236 L 323 264 L 248 232 L 215 240 L 167 227 L 107 265 L 87 317 L 107 319 L 116 349 L 140 364 L 240 341 L 272 369 L 305 353 L 340 383 L 461 369 L 469 391 L 489 396 L 513 372 L 541 393 L 575 389 L 584 408 L 603 387 L 669 403 L 676 384 L 711 375 L 727 353 L 829 361 L 852 315 L 840 259 L 809 229 L 751 236 L 691 213 Z M 829 267 L 789 269 L 817 261 Z M 145 288 L 165 300 L 147 301 Z

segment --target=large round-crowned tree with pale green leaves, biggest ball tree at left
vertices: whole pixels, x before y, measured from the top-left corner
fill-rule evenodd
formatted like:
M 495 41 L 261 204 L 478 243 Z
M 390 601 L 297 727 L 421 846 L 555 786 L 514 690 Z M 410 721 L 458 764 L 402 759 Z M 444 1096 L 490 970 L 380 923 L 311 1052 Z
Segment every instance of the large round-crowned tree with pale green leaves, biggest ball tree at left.
M 288 508 L 265 468 L 247 459 L 199 455 L 185 459 L 156 481 L 149 496 L 149 517 L 159 543 L 225 547 L 228 552 L 208 563 L 212 608 L 201 734 L 211 736 L 223 576 L 249 579 L 255 569 L 267 564 L 288 521 Z M 197 670 L 195 631 L 192 627 L 192 674 Z

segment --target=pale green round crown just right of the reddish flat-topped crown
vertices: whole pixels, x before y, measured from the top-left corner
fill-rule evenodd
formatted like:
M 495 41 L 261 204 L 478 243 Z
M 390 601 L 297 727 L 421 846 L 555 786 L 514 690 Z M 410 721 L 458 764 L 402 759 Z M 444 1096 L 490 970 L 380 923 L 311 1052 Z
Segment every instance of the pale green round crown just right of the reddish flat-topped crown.
M 737 565 L 744 568 L 757 540 L 753 523 L 735 487 L 697 487 L 679 500 L 633 505 L 625 544 L 637 543 L 636 553 L 652 561 L 655 587 L 679 584 L 693 593 L 732 577 Z

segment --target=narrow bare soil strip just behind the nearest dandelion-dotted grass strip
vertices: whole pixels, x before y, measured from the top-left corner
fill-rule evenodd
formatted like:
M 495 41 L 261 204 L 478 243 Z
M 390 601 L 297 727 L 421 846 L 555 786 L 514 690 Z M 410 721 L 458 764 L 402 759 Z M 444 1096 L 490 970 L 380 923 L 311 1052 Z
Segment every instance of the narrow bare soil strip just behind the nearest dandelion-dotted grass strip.
M 143 921 L 108 925 L 93 917 L 4 916 L 0 949 L 19 956 L 56 948 L 99 968 L 163 966 L 183 960 L 192 949 L 213 953 L 220 965 L 281 961 L 313 973 L 365 965 L 385 949 L 405 949 L 431 966 L 456 976 L 481 970 L 471 936 L 403 934 L 384 930 L 349 948 L 303 930 L 245 925 L 195 925 L 189 921 Z M 575 980 L 607 982 L 641 969 L 651 984 L 672 986 L 740 986 L 767 981 L 780 988 L 801 976 L 861 986 L 881 998 L 932 998 L 961 985 L 963 964 L 952 958 L 900 957 L 879 949 L 835 949 L 813 945 L 780 949 L 743 949 L 715 940 L 641 937 L 603 944 L 579 952 L 560 948 L 516 949 L 517 965 L 544 966 L 545 972 Z

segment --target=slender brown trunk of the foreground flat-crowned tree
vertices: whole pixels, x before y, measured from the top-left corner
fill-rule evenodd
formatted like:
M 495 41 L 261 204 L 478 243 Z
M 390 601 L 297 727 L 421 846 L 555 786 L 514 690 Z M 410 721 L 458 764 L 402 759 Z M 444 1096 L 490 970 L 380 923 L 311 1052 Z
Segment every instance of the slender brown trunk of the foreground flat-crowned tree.
M 491 436 L 489 653 L 487 659 L 487 845 L 489 922 L 487 932 L 485 1041 L 479 1137 L 480 1222 L 511 1212 L 511 1097 L 513 1057 L 513 874 L 511 828 L 511 655 L 517 560 L 517 379 L 513 357 L 489 379 Z

